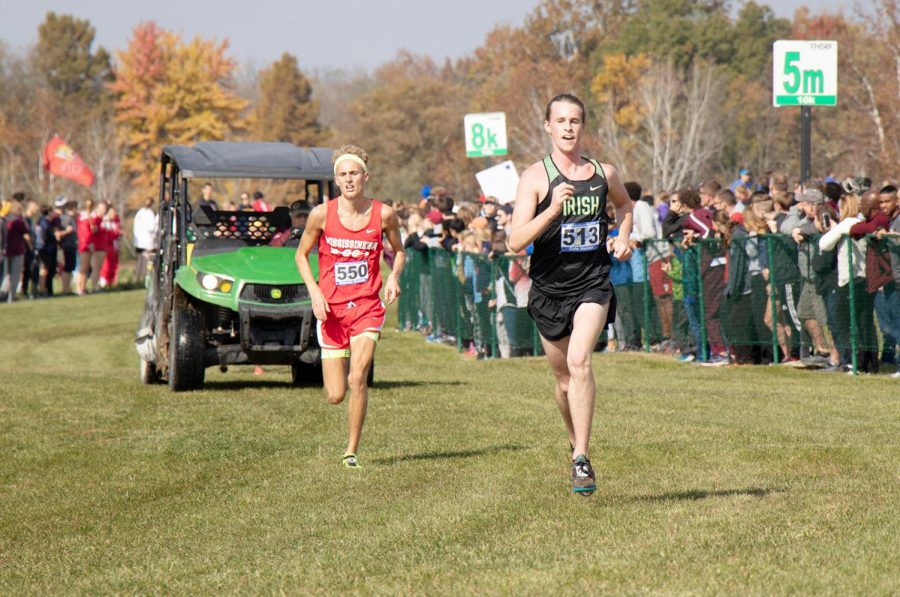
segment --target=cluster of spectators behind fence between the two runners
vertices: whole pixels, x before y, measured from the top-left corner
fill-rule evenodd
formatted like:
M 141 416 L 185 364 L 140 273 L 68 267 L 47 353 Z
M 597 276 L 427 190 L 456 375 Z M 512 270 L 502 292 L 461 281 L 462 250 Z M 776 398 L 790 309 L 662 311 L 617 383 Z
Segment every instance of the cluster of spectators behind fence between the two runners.
M 512 207 L 494 197 L 456 202 L 443 187 L 425 187 L 418 204 L 397 212 L 412 263 L 407 276 L 416 277 L 409 327 L 429 341 L 458 341 L 477 358 L 531 353 L 528 256 L 507 244 Z M 432 276 L 433 268 L 449 272 L 449 281 Z M 450 319 L 461 325 L 446 325 Z

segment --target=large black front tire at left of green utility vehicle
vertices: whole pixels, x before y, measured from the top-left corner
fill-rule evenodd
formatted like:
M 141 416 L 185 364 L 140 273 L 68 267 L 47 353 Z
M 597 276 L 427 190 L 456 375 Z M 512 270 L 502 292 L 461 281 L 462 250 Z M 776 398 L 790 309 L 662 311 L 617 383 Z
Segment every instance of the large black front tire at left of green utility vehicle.
M 203 387 L 206 351 L 203 315 L 190 309 L 172 313 L 169 336 L 169 389 L 173 392 L 199 390 Z

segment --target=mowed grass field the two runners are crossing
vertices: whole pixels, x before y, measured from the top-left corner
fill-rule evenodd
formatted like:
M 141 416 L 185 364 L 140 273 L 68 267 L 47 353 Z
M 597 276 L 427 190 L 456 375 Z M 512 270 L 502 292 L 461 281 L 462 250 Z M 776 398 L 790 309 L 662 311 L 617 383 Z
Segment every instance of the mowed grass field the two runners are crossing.
M 596 355 L 584 498 L 541 359 L 388 330 L 348 471 L 286 367 L 141 385 L 142 300 L 0 305 L 2 594 L 900 592 L 896 380 Z

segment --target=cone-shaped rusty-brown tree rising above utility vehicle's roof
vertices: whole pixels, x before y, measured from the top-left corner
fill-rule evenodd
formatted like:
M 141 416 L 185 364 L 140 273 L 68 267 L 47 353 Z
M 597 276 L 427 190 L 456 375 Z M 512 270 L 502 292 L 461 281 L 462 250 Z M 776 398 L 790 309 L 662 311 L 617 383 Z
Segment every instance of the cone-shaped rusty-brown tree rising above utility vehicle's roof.
M 285 52 L 259 75 L 259 101 L 253 110 L 256 138 L 312 147 L 328 133 L 319 124 L 319 103 L 297 59 Z

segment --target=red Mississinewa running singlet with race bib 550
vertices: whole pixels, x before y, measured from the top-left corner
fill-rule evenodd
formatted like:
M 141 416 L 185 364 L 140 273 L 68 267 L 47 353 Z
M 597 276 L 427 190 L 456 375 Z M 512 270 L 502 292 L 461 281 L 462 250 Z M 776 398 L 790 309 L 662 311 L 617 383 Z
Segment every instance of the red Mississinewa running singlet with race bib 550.
M 319 288 L 325 300 L 346 303 L 377 298 L 381 290 L 381 202 L 372 199 L 369 222 L 359 230 L 341 224 L 338 201 L 327 203 L 319 237 Z

